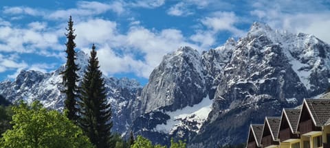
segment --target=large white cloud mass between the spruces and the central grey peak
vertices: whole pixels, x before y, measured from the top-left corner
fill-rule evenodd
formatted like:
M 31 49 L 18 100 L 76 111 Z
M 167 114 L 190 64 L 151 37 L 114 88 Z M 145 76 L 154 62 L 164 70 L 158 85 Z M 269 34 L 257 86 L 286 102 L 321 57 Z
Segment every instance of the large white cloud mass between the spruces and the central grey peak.
M 177 29 L 157 31 L 133 25 L 126 34 L 119 34 L 115 32 L 117 28 L 114 22 L 101 19 L 90 22 L 97 22 L 98 27 L 89 21 L 76 25 L 76 33 L 79 34 L 76 43 L 85 52 L 89 51 L 92 43 L 100 45 L 98 56 L 101 69 L 108 75 L 135 73 L 147 78 L 166 53 L 184 45 L 197 48 L 186 42 Z

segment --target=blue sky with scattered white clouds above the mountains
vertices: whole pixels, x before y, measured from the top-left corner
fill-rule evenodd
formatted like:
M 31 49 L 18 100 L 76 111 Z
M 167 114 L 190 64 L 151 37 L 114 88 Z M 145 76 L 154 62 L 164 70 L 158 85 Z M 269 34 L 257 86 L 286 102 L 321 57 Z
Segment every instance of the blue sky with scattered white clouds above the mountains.
M 76 51 L 89 53 L 94 43 L 104 75 L 142 85 L 166 53 L 219 47 L 245 36 L 253 22 L 330 43 L 329 0 L 1 0 L 0 81 L 63 65 L 70 15 Z

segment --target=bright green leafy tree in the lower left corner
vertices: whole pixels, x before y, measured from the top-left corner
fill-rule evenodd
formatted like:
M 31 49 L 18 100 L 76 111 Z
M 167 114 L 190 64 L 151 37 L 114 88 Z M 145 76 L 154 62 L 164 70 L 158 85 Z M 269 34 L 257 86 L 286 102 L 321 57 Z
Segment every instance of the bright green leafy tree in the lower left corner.
M 0 140 L 6 148 L 23 147 L 93 147 L 83 131 L 56 110 L 47 110 L 41 103 L 23 103 L 12 107 L 12 130 Z

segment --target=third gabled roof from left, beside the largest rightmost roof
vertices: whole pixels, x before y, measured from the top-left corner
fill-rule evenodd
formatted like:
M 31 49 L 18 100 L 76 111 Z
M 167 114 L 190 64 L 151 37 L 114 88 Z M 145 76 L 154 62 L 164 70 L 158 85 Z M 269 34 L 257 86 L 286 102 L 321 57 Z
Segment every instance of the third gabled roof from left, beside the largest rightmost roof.
M 295 133 L 297 130 L 297 126 L 298 126 L 300 109 L 284 108 L 282 116 L 285 116 L 285 118 L 289 122 L 289 127 L 290 127 L 291 132 Z M 282 118 L 281 118 L 281 120 L 282 120 Z

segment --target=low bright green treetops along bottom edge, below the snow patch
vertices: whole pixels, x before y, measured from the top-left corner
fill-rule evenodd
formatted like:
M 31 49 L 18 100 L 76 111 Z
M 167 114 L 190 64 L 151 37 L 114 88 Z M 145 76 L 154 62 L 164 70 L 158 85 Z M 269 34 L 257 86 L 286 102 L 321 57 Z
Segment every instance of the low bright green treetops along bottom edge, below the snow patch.
M 179 140 L 179 143 L 175 143 L 173 139 L 170 140 L 170 148 L 186 148 L 186 143 Z M 152 145 L 151 141 L 142 136 L 137 136 L 135 143 L 131 148 L 166 148 L 162 145 Z

